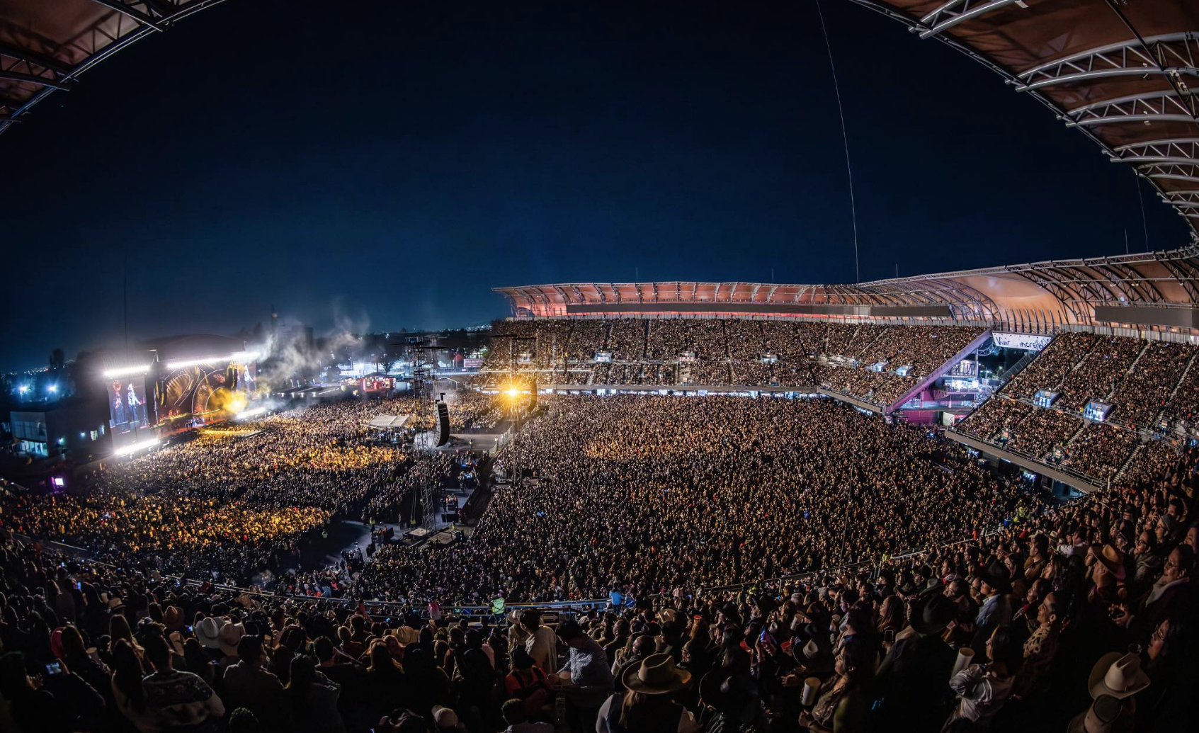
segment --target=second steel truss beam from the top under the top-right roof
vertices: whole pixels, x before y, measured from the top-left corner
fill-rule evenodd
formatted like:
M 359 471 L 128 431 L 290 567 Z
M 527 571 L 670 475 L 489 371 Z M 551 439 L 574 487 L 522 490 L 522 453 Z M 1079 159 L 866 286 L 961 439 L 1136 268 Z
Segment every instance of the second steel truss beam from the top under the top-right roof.
M 1197 37 L 1193 31 L 1165 34 L 1145 38 L 1144 43 L 1131 38 L 1084 50 L 1017 74 L 1024 84 L 1018 84 L 1016 91 L 1107 77 L 1199 76 L 1194 65 L 1199 55 Z

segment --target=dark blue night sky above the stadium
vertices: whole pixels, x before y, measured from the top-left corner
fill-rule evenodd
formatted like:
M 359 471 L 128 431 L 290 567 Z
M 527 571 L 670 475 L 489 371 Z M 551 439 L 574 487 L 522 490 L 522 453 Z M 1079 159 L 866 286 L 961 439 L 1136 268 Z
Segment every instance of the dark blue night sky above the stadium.
M 1132 173 L 989 70 L 825 0 L 862 280 L 1144 251 Z M 121 334 L 464 326 L 490 288 L 851 282 L 811 1 L 227 0 L 0 136 L 0 368 Z M 1143 188 L 1149 248 L 1187 242 Z M 634 270 L 639 269 L 639 270 Z

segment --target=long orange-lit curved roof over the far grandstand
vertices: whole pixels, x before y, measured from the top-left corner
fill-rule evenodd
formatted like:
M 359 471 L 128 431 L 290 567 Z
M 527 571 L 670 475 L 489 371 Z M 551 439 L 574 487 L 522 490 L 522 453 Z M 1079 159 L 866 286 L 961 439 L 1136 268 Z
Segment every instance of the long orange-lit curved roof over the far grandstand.
M 775 316 L 939 319 L 1052 332 L 1064 325 L 1199 334 L 1199 246 L 860 284 L 560 283 L 495 288 L 518 317 Z

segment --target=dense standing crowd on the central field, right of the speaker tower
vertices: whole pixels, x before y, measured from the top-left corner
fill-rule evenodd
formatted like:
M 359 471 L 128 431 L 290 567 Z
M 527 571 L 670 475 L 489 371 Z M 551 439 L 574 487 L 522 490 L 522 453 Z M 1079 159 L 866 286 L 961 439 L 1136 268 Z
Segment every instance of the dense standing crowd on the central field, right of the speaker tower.
M 558 396 L 500 456 L 538 485 L 498 491 L 464 543 L 363 575 L 408 597 L 549 601 L 879 558 L 1014 511 L 1023 494 L 954 445 L 831 401 Z

